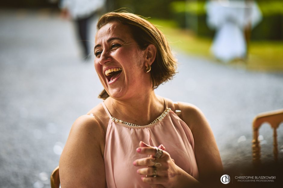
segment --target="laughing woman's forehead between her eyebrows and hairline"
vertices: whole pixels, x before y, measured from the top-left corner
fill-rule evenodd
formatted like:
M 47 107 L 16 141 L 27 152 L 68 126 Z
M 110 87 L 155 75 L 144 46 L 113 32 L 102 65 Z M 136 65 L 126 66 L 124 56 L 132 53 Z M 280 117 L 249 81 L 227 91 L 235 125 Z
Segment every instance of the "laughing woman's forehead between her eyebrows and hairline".
M 102 26 L 96 33 L 95 42 L 107 40 L 111 37 L 129 38 L 131 37 L 129 26 L 120 22 L 109 22 Z

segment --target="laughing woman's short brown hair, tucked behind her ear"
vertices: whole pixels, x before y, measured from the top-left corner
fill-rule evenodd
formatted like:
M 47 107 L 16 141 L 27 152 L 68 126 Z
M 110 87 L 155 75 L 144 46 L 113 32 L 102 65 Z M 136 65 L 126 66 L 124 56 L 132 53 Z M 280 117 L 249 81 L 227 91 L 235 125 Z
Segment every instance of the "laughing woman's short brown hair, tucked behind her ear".
M 154 89 L 160 84 L 173 79 L 173 76 L 176 74 L 177 60 L 173 56 L 164 34 L 158 28 L 135 14 L 110 12 L 100 17 L 97 29 L 99 30 L 107 23 L 113 21 L 121 22 L 130 27 L 133 39 L 140 49 L 146 49 L 149 44 L 153 44 L 156 47 L 156 58 L 151 65 L 150 71 Z M 106 99 L 109 95 L 103 90 L 98 97 Z

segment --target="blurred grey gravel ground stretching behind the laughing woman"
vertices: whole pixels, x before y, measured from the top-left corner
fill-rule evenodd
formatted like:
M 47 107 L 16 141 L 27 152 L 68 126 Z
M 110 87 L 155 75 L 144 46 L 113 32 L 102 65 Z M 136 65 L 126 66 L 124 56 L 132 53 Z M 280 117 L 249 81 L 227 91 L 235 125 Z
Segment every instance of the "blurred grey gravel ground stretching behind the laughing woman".
M 0 25 L 0 187 L 49 187 L 73 121 L 101 102 L 102 86 L 93 57 L 80 58 L 71 22 L 45 10 L 1 10 Z M 225 169 L 251 165 L 253 117 L 283 108 L 283 74 L 177 57 L 179 74 L 157 94 L 202 109 Z M 270 161 L 268 124 L 260 134 Z M 278 142 L 282 160 L 283 126 Z

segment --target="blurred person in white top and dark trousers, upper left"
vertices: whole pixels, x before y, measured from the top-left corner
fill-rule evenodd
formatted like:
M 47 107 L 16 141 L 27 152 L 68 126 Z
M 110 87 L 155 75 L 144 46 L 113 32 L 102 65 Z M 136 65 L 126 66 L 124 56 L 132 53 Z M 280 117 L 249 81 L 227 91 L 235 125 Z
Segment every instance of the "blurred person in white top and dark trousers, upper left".
M 104 7 L 105 0 L 61 0 L 61 16 L 66 19 L 73 19 L 76 33 L 83 49 L 83 57 L 91 54 L 89 46 L 89 26 L 93 16 Z

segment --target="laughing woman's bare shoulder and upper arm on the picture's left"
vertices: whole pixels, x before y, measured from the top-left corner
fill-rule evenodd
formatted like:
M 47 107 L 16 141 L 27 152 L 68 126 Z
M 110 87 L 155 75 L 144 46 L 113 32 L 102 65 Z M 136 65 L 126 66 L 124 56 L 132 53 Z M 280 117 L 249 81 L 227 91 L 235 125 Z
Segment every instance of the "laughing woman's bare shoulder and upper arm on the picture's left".
M 59 162 L 62 188 L 106 187 L 104 140 L 94 117 L 83 115 L 74 122 Z

